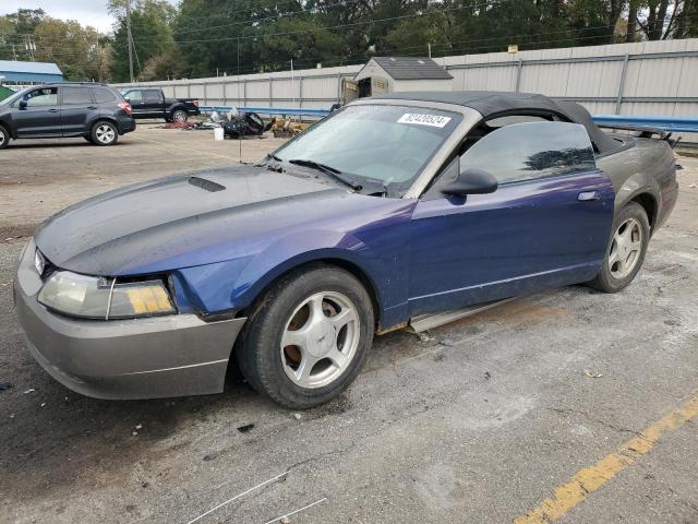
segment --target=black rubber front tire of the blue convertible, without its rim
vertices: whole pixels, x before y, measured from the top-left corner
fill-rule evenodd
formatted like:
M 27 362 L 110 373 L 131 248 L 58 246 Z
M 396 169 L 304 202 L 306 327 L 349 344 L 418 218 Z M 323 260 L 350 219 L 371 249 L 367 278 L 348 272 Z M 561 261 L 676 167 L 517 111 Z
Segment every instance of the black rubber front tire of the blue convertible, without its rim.
M 281 356 L 286 350 L 281 349 L 281 337 L 297 308 L 318 293 L 337 293 L 350 300 L 357 312 L 354 333 L 359 341 L 341 374 L 326 385 L 302 388 L 285 370 L 288 361 Z M 373 305 L 361 282 L 339 267 L 312 264 L 281 277 L 256 301 L 236 344 L 236 355 L 242 374 L 255 391 L 281 406 L 304 409 L 334 398 L 349 386 L 365 360 L 373 331 Z

